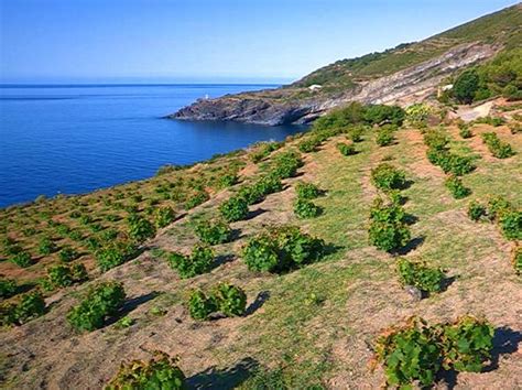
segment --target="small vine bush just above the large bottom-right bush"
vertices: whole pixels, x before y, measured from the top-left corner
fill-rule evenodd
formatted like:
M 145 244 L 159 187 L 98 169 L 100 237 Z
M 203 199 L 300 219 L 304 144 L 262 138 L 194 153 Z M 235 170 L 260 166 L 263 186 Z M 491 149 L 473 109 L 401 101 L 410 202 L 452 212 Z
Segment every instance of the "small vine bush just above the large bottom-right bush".
M 399 278 L 403 285 L 413 285 L 425 292 L 439 292 L 443 288 L 444 272 L 424 263 L 399 259 Z

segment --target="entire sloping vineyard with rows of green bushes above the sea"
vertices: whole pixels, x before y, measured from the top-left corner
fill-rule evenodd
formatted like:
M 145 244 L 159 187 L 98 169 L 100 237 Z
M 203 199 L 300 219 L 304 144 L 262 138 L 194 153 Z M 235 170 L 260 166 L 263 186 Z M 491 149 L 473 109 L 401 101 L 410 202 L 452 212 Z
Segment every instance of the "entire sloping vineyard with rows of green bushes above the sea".
M 2 388 L 521 387 L 521 108 L 499 105 L 352 104 L 0 210 Z

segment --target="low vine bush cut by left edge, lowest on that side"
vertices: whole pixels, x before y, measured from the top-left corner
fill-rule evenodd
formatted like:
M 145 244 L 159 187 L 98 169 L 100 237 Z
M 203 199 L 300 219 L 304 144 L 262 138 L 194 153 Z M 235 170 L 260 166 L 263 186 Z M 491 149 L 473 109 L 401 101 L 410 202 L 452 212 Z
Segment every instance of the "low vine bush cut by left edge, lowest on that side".
M 22 294 L 18 302 L 0 305 L 0 326 L 22 325 L 45 313 L 45 301 L 40 292 Z

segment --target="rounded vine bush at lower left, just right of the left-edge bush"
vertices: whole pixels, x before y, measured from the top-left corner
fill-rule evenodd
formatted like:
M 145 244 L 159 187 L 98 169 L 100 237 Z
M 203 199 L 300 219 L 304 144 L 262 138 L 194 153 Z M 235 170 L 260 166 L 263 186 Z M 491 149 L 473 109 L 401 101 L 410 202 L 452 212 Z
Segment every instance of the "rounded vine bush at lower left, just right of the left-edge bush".
M 101 282 L 89 289 L 79 305 L 67 313 L 67 321 L 78 332 L 91 332 L 104 326 L 107 316 L 116 315 L 126 299 L 121 283 Z

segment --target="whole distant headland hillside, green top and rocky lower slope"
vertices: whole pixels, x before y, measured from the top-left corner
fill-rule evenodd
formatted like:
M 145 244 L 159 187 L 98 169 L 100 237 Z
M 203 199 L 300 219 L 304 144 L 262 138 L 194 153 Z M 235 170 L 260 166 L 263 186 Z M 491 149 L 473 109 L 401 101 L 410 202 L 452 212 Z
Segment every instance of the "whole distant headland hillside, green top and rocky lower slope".
M 275 126 L 308 122 L 349 101 L 409 105 L 433 97 L 458 69 L 520 47 L 521 31 L 516 4 L 421 42 L 338 61 L 282 88 L 200 99 L 170 117 Z

